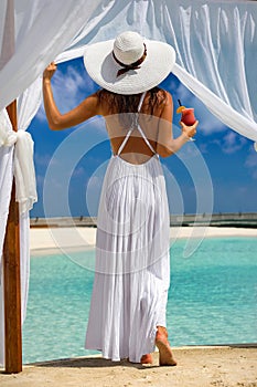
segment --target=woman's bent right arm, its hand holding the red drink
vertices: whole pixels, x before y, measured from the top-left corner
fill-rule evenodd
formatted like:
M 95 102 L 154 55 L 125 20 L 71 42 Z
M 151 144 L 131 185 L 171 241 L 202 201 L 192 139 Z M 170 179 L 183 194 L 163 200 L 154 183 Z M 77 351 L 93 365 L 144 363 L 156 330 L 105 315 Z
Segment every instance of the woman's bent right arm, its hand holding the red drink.
M 194 125 L 186 126 L 181 123 L 182 133 L 179 137 L 173 138 L 172 132 L 172 118 L 173 118 L 173 101 L 170 93 L 165 92 L 167 101 L 162 109 L 159 123 L 158 132 L 158 145 L 157 153 L 161 157 L 169 157 L 175 154 L 185 143 L 190 140 L 196 133 L 196 127 L 199 122 L 196 121 Z

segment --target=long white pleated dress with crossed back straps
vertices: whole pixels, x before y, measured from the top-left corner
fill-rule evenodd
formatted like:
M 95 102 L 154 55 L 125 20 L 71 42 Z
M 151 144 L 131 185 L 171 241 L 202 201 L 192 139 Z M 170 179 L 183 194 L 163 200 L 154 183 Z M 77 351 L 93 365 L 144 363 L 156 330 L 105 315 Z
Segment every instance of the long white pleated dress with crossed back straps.
M 142 94 L 138 112 L 140 112 Z M 104 179 L 96 237 L 95 280 L 85 348 L 111 360 L 140 363 L 165 326 L 170 285 L 169 206 L 159 155 L 135 165 L 113 155 Z

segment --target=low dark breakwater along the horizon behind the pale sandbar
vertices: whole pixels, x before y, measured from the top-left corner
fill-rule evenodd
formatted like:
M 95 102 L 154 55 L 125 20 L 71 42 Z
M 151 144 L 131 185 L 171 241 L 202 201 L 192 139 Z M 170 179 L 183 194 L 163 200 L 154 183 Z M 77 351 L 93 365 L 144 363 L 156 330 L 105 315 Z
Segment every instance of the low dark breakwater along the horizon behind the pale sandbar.
M 31 218 L 31 228 L 97 227 L 97 217 Z M 170 227 L 239 227 L 257 228 L 257 212 L 171 215 Z

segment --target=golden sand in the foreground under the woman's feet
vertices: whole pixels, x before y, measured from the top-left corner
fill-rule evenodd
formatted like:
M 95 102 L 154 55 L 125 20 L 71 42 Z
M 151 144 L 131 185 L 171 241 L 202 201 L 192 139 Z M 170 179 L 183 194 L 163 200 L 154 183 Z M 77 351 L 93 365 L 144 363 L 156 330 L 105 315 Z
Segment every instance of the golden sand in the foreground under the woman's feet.
M 254 387 L 257 386 L 257 347 L 184 347 L 173 351 L 176 367 L 113 363 L 79 357 L 23 366 L 20 374 L 0 374 L 1 387 Z

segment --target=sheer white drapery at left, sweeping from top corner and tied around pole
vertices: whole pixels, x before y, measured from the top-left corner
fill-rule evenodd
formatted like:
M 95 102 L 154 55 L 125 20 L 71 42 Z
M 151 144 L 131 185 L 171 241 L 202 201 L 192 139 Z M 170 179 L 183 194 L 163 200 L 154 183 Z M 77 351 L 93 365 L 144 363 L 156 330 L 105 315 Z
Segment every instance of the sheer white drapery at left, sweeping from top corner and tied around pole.
M 18 134 L 13 134 L 7 112 L 1 112 L 0 127 L 0 258 L 9 212 L 13 172 L 17 184 L 17 201 L 20 208 L 21 244 L 21 304 L 22 322 L 25 317 L 30 247 L 29 210 L 36 200 L 33 177 L 33 142 L 23 133 L 30 125 L 41 103 L 40 75 L 46 64 L 62 52 L 79 31 L 100 1 L 67 0 L 3 0 L 0 3 L 0 111 L 12 100 L 18 100 Z M 86 8 L 86 12 L 82 10 Z M 9 12 L 8 12 L 9 10 Z M 10 21 L 10 10 L 14 11 L 15 23 Z M 8 28 L 7 28 L 8 27 Z M 7 43 L 10 28 L 14 31 L 14 48 Z M 14 148 L 14 145 L 15 148 Z M 8 147 L 9 146 L 9 147 Z M 13 151 L 14 150 L 14 151 Z M 4 365 L 4 307 L 2 264 L 0 284 L 0 364 Z

